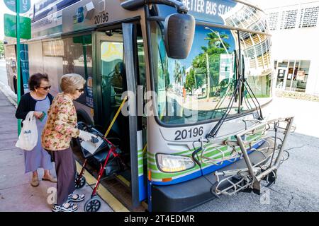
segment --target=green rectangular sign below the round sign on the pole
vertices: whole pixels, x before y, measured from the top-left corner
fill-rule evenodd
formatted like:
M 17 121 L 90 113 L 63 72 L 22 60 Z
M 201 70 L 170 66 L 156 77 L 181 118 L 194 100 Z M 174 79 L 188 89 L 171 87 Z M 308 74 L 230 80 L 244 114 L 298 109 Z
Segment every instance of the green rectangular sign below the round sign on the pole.
M 26 40 L 31 38 L 31 19 L 20 16 L 20 37 Z M 4 14 L 4 35 L 16 37 L 16 16 Z

